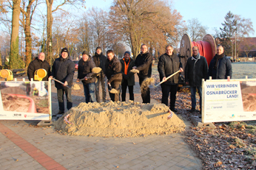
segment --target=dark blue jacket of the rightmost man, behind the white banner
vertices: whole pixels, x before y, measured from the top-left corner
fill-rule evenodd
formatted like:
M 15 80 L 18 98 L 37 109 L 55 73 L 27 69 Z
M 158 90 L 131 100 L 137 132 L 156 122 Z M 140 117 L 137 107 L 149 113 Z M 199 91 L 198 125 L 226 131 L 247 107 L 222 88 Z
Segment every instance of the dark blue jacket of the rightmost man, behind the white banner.
M 215 63 L 216 55 L 209 64 L 209 77 L 212 77 L 212 79 L 227 79 L 228 76 L 230 79 L 232 78 L 231 61 L 226 57 L 226 55 L 218 60 L 217 68 L 215 68 Z

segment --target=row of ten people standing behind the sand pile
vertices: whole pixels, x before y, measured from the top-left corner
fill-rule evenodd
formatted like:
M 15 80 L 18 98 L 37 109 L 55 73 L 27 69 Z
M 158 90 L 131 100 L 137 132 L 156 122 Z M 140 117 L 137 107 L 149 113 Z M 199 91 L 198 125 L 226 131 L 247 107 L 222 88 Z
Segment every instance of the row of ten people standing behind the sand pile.
M 57 79 L 63 84 L 55 81 L 55 88 L 57 88 L 59 111 L 57 114 L 64 113 L 64 94 L 67 99 L 67 110 L 73 107 L 71 96 L 71 88 L 73 85 L 73 77 L 75 74 L 75 63 L 69 59 L 68 49 L 61 49 L 61 57 L 55 59 L 52 69 L 50 65 L 44 60 L 44 53 L 40 53 L 35 60 L 33 60 L 27 68 L 28 78 L 33 78 L 35 71 L 39 68 L 44 68 L 47 71 L 47 77 L 42 79 Z M 94 73 L 93 68 L 101 68 L 101 72 Z M 132 71 L 133 70 L 133 71 Z M 162 103 L 168 106 L 168 98 L 170 95 L 170 110 L 177 112 L 175 109 L 176 93 L 178 91 L 179 74 L 172 77 L 170 75 L 175 72 L 182 72 L 183 65 L 177 54 L 173 53 L 171 45 L 166 46 L 166 53 L 162 54 L 158 60 L 158 72 L 162 88 Z M 134 100 L 133 86 L 135 85 L 135 73 L 138 73 L 139 84 L 141 85 L 145 79 L 151 77 L 152 74 L 152 54 L 148 52 L 146 44 L 141 45 L 141 53 L 138 54 L 135 60 L 132 60 L 129 51 L 124 52 L 124 57 L 118 60 L 112 50 L 107 51 L 107 57 L 102 53 L 101 47 L 97 47 L 95 54 L 90 57 L 89 52 L 84 51 L 82 58 L 78 62 L 78 77 L 77 82 L 81 81 L 84 85 L 85 102 L 101 102 L 100 99 L 100 85 L 102 91 L 102 102 L 106 102 L 106 84 L 109 91 L 114 88 L 115 93 L 110 93 L 110 99 L 115 101 L 126 100 L 127 87 L 129 89 L 129 99 Z M 212 59 L 211 63 L 206 62 L 206 58 L 201 56 L 198 47 L 194 46 L 192 49 L 192 57 L 189 57 L 185 68 L 185 82 L 190 85 L 192 108 L 191 112 L 195 111 L 196 98 L 195 93 L 198 89 L 201 105 L 201 83 L 202 79 L 212 77 L 212 79 L 226 79 L 231 78 L 232 67 L 231 62 L 223 54 L 223 47 L 218 46 L 217 54 Z M 121 93 L 121 99 L 120 99 Z M 141 98 L 143 103 L 150 103 L 149 88 L 141 91 Z

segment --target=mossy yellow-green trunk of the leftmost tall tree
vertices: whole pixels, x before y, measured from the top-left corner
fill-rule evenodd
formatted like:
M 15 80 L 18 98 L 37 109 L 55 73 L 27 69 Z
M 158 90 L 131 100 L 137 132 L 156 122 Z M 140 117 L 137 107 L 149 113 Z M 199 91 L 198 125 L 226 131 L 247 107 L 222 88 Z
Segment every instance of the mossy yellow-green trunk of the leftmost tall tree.
M 10 63 L 9 68 L 18 68 L 18 26 L 21 0 L 13 0 L 12 35 L 10 38 Z

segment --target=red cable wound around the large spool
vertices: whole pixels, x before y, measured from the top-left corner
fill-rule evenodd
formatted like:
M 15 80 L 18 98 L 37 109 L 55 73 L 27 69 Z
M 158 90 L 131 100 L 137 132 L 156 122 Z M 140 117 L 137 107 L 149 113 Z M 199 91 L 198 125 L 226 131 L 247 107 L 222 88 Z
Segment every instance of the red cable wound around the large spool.
M 193 41 L 192 42 L 192 47 L 193 46 L 198 46 L 199 54 L 203 57 L 206 57 L 206 60 L 207 60 L 208 66 L 209 66 L 209 63 L 212 60 L 212 46 L 211 46 L 211 44 L 208 43 L 207 41 L 200 40 L 200 41 L 197 41 L 197 42 Z

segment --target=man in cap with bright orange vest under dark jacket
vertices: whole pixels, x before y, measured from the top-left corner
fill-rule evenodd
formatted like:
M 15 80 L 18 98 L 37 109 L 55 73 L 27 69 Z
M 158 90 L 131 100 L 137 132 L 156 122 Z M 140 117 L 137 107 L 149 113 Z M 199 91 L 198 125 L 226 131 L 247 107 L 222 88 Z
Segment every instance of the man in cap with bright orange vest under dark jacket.
M 129 100 L 134 100 L 133 85 L 135 85 L 135 77 L 133 73 L 129 72 L 130 70 L 132 70 L 132 67 L 134 66 L 134 60 L 132 60 L 130 56 L 131 53 L 129 51 L 124 52 L 124 58 L 120 60 L 120 63 L 122 65 L 121 73 L 123 74 L 123 80 L 121 83 L 122 102 L 125 102 L 127 86 L 129 89 Z

